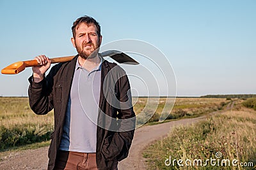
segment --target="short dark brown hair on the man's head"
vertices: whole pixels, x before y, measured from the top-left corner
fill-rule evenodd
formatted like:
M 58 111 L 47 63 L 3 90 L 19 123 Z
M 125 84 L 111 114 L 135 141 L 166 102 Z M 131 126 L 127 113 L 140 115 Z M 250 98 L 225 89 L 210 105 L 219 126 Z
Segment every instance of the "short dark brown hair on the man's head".
M 86 25 L 95 25 L 97 29 L 97 34 L 100 37 L 100 24 L 97 22 L 94 18 L 89 17 L 87 15 L 84 15 L 84 17 L 77 18 L 75 22 L 73 22 L 72 26 L 72 33 L 73 33 L 73 38 L 76 38 L 76 29 L 80 24 L 86 24 Z

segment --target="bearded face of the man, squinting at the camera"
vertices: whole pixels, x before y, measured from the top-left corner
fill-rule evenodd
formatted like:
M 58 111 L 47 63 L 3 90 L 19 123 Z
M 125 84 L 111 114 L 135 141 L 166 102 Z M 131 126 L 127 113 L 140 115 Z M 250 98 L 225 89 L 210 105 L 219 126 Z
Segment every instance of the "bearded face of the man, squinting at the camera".
M 102 36 L 98 36 L 95 25 L 86 25 L 81 23 L 80 25 L 77 25 L 76 37 L 71 38 L 71 41 L 80 57 L 87 59 L 100 47 L 101 39 Z M 96 52 L 98 51 L 99 49 Z M 89 58 L 93 57 L 95 57 L 95 55 L 91 55 Z

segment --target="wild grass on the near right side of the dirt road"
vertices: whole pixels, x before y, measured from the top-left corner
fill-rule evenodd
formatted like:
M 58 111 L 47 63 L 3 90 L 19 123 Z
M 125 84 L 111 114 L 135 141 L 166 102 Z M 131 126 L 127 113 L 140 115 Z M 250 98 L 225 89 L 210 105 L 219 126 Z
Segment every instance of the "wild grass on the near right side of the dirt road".
M 223 111 L 192 126 L 172 129 L 167 138 L 150 145 L 143 157 L 147 159 L 147 169 L 237 169 L 232 167 L 232 162 L 231 166 L 225 166 L 225 162 L 223 166 L 212 167 L 209 162 L 207 166 L 193 166 L 195 159 L 202 160 L 203 164 L 207 159 L 218 160 L 216 153 L 221 152 L 220 164 L 225 159 L 237 159 L 238 162 L 252 162 L 250 164 L 256 167 L 255 134 L 256 111 L 238 104 L 236 109 Z M 166 166 L 164 161 L 170 160 L 170 156 L 172 162 Z M 173 164 L 174 159 L 176 161 Z M 183 163 L 187 159 L 191 160 L 192 166 L 186 167 L 185 163 L 184 167 L 178 166 L 179 159 Z

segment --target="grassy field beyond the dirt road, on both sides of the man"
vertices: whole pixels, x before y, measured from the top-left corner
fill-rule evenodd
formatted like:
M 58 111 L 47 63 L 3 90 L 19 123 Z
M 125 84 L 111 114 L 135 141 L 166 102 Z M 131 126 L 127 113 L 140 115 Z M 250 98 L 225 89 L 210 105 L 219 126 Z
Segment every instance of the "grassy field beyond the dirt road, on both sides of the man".
M 166 101 L 164 98 L 160 98 L 159 101 L 150 100 L 150 107 L 145 108 L 147 102 L 147 98 L 138 98 L 134 111 L 137 115 L 154 113 L 148 122 L 157 122 Z M 179 98 L 176 99 L 168 119 L 198 117 L 220 110 L 228 102 L 230 101 L 226 99 Z M 152 110 L 153 105 L 157 106 L 156 110 Z M 172 106 L 169 107 L 172 108 Z M 53 111 L 47 115 L 35 115 L 29 107 L 28 97 L 0 97 L 1 152 L 17 146 L 49 141 L 53 127 Z

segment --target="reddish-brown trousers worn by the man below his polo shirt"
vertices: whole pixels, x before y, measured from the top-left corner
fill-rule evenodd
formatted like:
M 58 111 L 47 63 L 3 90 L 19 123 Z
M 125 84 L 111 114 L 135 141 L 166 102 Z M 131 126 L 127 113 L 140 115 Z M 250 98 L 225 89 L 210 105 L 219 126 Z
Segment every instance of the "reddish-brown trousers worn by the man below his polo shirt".
M 117 170 L 117 164 L 111 169 Z M 96 170 L 96 153 L 81 153 L 59 150 L 57 152 L 54 170 Z

